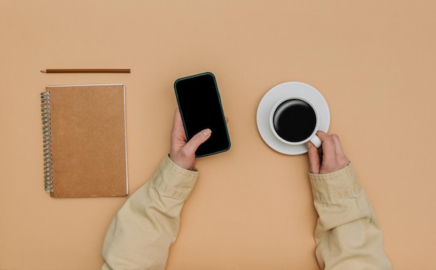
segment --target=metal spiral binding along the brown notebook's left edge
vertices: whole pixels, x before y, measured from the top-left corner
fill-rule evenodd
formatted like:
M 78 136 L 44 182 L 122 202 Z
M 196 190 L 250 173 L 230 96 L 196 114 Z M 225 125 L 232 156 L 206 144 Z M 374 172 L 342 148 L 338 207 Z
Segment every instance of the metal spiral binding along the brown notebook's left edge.
M 53 193 L 52 125 L 50 114 L 50 92 L 41 93 L 42 142 L 44 152 L 44 188 Z

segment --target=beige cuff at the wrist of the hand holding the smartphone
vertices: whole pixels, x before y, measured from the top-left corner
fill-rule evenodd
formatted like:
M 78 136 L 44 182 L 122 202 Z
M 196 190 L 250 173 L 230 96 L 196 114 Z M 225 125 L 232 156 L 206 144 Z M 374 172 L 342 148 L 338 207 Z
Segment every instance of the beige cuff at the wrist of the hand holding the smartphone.
M 186 200 L 194 189 L 198 171 L 177 166 L 168 156 L 157 167 L 151 181 L 164 196 Z

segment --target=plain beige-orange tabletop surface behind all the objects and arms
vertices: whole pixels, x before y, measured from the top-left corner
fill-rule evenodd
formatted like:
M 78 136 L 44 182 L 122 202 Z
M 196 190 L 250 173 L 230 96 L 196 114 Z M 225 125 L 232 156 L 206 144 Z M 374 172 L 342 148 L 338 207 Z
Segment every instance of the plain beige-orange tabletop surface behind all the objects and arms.
M 130 192 L 169 150 L 173 81 L 214 72 L 233 146 L 198 161 L 168 269 L 318 269 L 306 155 L 271 150 L 261 97 L 320 90 L 384 231 L 394 269 L 435 269 L 434 1 L 0 1 L 0 269 L 98 269 L 126 198 L 54 199 L 39 94 L 127 88 Z M 131 68 L 131 74 L 42 74 Z

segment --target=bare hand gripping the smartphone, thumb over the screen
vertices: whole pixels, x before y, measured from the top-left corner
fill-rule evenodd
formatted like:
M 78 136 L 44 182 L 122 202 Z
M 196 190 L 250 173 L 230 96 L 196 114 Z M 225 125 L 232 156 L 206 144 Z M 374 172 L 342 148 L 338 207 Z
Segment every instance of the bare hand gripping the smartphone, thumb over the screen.
M 177 165 L 192 170 L 196 164 L 195 151 L 201 143 L 208 140 L 212 134 L 210 129 L 203 129 L 188 142 L 183 128 L 182 116 L 179 109 L 174 113 L 173 129 L 171 130 L 171 147 L 169 158 Z

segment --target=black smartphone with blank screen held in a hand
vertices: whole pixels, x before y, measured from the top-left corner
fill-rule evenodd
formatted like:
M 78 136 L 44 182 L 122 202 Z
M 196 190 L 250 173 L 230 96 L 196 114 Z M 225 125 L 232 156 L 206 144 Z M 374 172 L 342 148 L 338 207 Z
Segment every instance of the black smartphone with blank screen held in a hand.
M 187 140 L 203 129 L 212 130 L 208 141 L 196 150 L 196 157 L 229 150 L 230 137 L 215 75 L 205 72 L 177 79 L 174 90 Z

